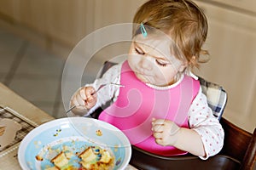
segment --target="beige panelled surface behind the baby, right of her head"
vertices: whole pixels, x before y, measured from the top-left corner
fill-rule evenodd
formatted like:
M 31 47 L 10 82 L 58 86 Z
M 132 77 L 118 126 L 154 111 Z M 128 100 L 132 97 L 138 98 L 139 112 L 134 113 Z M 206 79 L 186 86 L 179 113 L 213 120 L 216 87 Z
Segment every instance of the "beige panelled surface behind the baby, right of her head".
M 199 75 L 218 82 L 227 91 L 224 117 L 253 132 L 256 127 L 256 2 L 196 2 L 207 14 L 206 48 L 211 54 L 210 62 L 201 67 Z

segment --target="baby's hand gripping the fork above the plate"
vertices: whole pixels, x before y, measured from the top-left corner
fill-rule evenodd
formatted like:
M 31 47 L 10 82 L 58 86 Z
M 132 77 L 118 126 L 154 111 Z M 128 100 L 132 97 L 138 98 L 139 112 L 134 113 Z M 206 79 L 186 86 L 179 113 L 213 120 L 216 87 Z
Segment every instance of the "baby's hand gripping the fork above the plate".
M 76 105 L 73 112 L 89 110 L 96 105 L 97 96 L 96 90 L 93 87 L 80 88 L 71 99 L 71 106 Z

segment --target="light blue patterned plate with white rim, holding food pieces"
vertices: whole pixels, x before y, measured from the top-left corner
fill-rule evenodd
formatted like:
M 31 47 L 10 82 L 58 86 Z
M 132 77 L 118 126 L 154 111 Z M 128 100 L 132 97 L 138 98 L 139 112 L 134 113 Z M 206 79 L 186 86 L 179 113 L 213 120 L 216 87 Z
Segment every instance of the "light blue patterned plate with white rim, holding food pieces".
M 77 153 L 99 146 L 114 156 L 113 169 L 124 169 L 131 159 L 131 144 L 117 127 L 92 118 L 67 117 L 34 128 L 21 141 L 18 160 L 22 169 L 53 167 L 50 160 L 64 151 L 69 165 L 80 167 Z M 38 161 L 36 156 L 43 157 Z

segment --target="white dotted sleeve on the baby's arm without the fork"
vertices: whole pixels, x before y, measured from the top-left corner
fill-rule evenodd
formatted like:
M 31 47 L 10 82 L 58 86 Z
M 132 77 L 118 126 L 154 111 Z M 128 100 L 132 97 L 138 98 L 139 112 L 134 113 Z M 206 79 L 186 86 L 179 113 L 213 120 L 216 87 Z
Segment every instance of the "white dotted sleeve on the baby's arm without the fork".
M 224 129 L 218 122 L 218 118 L 212 114 L 212 109 L 207 104 L 207 97 L 202 94 L 201 88 L 189 109 L 189 127 L 201 136 L 206 160 L 214 156 L 222 149 L 224 144 Z

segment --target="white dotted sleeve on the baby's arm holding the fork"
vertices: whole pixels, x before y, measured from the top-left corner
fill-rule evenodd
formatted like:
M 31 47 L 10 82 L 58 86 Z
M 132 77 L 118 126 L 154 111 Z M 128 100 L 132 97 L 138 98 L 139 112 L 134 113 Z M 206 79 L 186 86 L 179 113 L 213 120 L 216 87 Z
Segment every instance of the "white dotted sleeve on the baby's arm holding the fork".
M 92 84 L 86 84 L 87 86 L 92 86 L 95 89 L 99 88 L 101 84 L 105 83 L 120 83 L 120 72 L 121 72 L 121 66 L 119 65 L 113 65 L 111 68 L 108 69 L 108 71 L 102 76 L 102 78 L 96 79 L 95 82 Z M 119 95 L 119 87 L 113 86 L 113 85 L 107 85 L 101 90 L 97 92 L 97 102 L 94 107 L 88 111 L 88 113 L 85 116 L 90 115 L 92 112 L 96 111 L 97 108 L 101 107 L 102 105 L 105 105 L 109 100 L 112 100 L 113 102 L 117 99 Z

